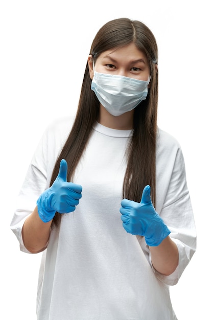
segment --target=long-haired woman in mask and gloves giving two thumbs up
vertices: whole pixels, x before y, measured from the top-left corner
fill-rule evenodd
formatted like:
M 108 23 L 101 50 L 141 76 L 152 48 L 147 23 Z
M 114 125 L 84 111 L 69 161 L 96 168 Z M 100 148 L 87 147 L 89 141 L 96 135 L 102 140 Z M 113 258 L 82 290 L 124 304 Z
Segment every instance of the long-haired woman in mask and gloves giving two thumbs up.
M 178 142 L 157 127 L 157 45 L 140 21 L 94 38 L 75 119 L 39 143 L 11 228 L 43 251 L 39 320 L 172 320 L 196 249 Z

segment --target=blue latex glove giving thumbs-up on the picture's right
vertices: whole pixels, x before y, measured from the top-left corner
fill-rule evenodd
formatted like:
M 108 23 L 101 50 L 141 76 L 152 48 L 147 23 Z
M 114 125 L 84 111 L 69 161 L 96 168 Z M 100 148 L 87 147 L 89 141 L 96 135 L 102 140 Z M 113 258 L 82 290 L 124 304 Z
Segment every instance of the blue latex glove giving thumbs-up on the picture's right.
M 140 203 L 123 199 L 120 212 L 123 227 L 132 235 L 144 236 L 150 246 L 159 245 L 170 230 L 157 214 L 150 197 L 150 186 L 143 190 Z

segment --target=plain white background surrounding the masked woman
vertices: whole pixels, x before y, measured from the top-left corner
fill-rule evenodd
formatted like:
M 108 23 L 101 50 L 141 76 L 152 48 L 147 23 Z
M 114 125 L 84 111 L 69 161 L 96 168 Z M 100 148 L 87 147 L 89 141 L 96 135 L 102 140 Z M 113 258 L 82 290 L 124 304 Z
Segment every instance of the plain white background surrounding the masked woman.
M 211 316 L 210 1 L 2 0 L 0 317 L 5 320 L 36 318 L 40 255 L 19 252 L 10 230 L 15 198 L 45 127 L 55 118 L 76 112 L 93 37 L 105 22 L 118 17 L 141 20 L 155 34 L 159 48 L 158 125 L 176 137 L 185 158 L 198 244 L 179 283 L 171 287 L 173 306 L 179 320 Z

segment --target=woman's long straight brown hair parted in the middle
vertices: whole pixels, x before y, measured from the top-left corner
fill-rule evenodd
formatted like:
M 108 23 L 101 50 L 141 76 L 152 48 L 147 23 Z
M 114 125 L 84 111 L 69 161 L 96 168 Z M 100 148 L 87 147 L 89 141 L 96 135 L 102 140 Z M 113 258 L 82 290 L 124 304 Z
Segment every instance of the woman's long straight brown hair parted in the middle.
M 112 48 L 123 47 L 134 42 L 136 47 L 146 54 L 150 67 L 151 85 L 147 99 L 140 102 L 134 110 L 134 130 L 127 150 L 127 168 L 124 176 L 123 196 L 139 202 L 143 188 L 151 186 L 151 196 L 155 205 L 155 149 L 157 131 L 158 72 L 157 44 L 150 29 L 137 20 L 119 18 L 107 22 L 94 38 L 90 55 L 94 62 L 98 56 Z M 62 158 L 68 165 L 67 181 L 72 180 L 83 151 L 92 133 L 92 127 L 98 120 L 100 102 L 91 90 L 91 79 L 86 64 L 79 105 L 75 122 L 63 149 L 56 161 L 50 185 L 59 171 Z M 56 213 L 53 225 L 58 226 L 61 215 Z

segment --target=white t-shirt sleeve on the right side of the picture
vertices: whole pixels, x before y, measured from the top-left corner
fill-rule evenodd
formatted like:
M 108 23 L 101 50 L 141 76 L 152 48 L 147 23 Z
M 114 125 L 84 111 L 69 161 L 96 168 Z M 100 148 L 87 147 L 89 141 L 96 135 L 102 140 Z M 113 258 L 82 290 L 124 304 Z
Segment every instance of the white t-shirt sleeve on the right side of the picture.
M 157 193 L 160 203 L 156 210 L 167 224 L 171 231 L 169 236 L 178 247 L 179 264 L 170 276 L 163 276 L 153 270 L 159 280 L 175 285 L 195 253 L 196 227 L 182 150 L 175 140 L 170 137 L 167 139 L 158 157 Z

